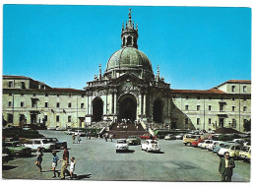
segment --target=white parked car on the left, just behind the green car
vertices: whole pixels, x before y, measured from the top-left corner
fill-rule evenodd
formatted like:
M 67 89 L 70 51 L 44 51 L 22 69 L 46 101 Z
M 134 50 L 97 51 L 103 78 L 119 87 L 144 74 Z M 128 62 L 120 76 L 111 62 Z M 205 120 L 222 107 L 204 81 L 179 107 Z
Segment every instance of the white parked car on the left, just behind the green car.
M 31 148 L 32 151 L 36 151 L 37 148 L 41 148 L 42 151 L 50 151 L 55 149 L 55 144 L 48 143 L 45 139 L 31 139 L 27 143 L 24 143 L 25 147 Z

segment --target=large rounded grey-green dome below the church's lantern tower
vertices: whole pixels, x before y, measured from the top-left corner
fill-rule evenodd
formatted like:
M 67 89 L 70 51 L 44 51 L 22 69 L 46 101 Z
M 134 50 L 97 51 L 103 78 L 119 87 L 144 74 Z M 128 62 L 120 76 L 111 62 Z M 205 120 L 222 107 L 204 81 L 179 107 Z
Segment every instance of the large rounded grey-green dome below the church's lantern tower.
M 143 69 L 153 73 L 151 61 L 142 51 L 134 47 L 124 47 L 114 52 L 106 65 L 106 72 L 113 69 Z

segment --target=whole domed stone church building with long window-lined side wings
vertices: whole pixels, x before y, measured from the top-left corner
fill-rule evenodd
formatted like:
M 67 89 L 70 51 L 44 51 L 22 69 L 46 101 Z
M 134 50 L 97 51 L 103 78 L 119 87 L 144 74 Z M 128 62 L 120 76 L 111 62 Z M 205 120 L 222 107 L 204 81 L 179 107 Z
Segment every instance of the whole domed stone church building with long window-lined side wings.
M 251 82 L 229 80 L 206 91 L 172 90 L 138 49 L 131 12 L 121 49 L 83 90 L 51 88 L 24 76 L 3 76 L 3 121 L 47 127 L 102 127 L 124 119 L 147 130 L 231 127 L 243 132 L 251 119 Z M 151 132 L 151 131 L 150 131 Z

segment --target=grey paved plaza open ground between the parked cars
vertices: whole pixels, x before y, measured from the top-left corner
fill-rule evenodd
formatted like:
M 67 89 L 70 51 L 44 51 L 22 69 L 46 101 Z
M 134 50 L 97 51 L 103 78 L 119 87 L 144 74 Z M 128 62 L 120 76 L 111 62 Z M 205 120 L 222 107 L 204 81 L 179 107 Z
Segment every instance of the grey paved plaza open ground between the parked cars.
M 81 180 L 145 180 L 145 181 L 220 181 L 219 156 L 206 150 L 185 147 L 181 140 L 160 140 L 160 154 L 141 151 L 141 146 L 130 146 L 128 153 L 115 152 L 115 143 L 103 139 L 82 138 L 72 144 L 72 138 L 61 131 L 40 131 L 46 137 L 67 141 L 70 156 L 77 160 L 76 171 Z M 57 156 L 62 158 L 63 151 Z M 34 165 L 35 156 L 10 160 L 3 166 L 5 179 L 51 179 L 52 155 L 45 153 L 43 172 Z M 250 181 L 250 163 L 235 160 L 232 181 Z M 60 170 L 58 164 L 58 170 Z M 92 175 L 91 175 L 92 174 Z M 67 177 L 68 179 L 69 177 Z M 59 179 L 59 178 L 57 178 Z

